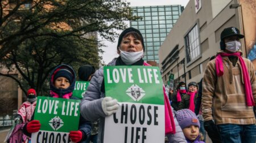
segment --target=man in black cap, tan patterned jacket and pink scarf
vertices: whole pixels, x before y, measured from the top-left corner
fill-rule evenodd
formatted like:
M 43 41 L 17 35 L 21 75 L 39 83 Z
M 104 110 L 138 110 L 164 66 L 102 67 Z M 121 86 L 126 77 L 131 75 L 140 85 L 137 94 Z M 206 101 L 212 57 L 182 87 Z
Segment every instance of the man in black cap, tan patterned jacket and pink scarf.
M 221 51 L 205 69 L 202 96 L 204 124 L 214 128 L 214 120 L 222 142 L 256 142 L 253 112 L 256 77 L 253 64 L 242 58 L 240 39 L 243 37 L 236 27 L 225 28 L 221 32 Z

